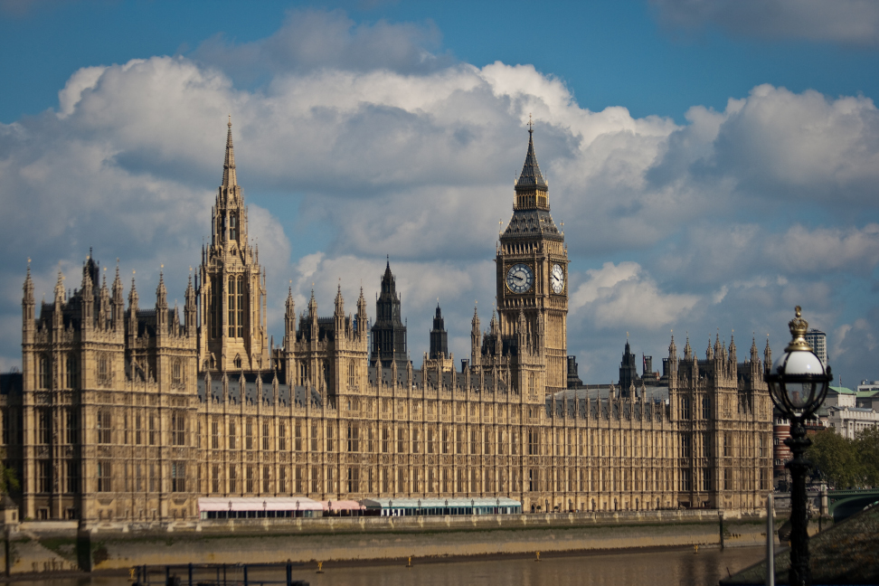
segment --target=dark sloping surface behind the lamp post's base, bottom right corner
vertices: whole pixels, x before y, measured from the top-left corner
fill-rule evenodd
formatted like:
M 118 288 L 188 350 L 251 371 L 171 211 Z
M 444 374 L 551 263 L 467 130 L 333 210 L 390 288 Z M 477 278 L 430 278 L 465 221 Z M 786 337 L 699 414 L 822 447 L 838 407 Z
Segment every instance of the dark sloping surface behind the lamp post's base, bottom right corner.
M 852 515 L 809 541 L 812 581 L 816 584 L 879 583 L 879 506 Z M 789 550 L 775 556 L 775 583 L 788 583 Z M 730 578 L 722 586 L 762 584 L 766 561 L 756 563 Z

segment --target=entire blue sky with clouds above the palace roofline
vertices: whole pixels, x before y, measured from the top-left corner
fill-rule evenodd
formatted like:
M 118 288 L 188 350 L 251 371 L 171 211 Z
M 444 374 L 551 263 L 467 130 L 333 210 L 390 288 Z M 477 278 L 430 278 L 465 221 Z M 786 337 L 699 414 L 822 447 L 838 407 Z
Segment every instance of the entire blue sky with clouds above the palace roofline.
M 374 316 L 390 257 L 415 366 L 438 300 L 468 357 L 533 117 L 584 382 L 627 336 L 777 355 L 795 305 L 879 379 L 879 3 L 0 0 L 0 55 L 0 370 L 28 259 L 38 298 L 93 250 L 183 305 L 229 115 L 269 334 L 288 287 Z

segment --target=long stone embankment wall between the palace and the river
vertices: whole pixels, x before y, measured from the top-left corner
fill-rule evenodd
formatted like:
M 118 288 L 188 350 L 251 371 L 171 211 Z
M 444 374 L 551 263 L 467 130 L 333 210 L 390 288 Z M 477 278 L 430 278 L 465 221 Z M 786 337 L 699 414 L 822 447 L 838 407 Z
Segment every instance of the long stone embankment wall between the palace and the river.
M 765 517 L 724 516 L 725 546 L 755 545 L 765 539 Z M 8 543 L 10 573 L 51 572 L 188 562 L 326 562 L 717 546 L 721 519 L 716 511 L 651 511 L 238 519 L 165 526 L 30 522 L 11 534 Z

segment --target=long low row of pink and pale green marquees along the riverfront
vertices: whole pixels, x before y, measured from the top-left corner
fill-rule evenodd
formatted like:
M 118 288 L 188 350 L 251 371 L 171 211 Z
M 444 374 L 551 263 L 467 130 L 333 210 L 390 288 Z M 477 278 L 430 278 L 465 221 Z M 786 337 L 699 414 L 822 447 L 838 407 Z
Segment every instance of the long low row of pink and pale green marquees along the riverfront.
M 320 516 L 515 515 L 522 503 L 504 496 L 473 498 L 386 498 L 316 501 L 306 496 L 202 497 L 199 516 L 259 519 Z

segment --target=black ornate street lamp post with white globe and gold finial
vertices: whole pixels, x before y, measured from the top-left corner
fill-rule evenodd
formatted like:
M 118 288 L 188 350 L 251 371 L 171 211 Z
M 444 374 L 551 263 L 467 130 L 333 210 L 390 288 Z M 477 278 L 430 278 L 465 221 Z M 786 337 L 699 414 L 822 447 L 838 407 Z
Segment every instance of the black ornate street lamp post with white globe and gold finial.
M 793 458 L 785 465 L 791 477 L 790 488 L 790 571 L 791 585 L 811 586 L 812 574 L 808 567 L 808 514 L 806 507 L 806 474 L 809 464 L 804 454 L 812 445 L 806 437 L 806 421 L 827 396 L 827 387 L 833 380 L 830 367 L 812 352 L 804 335 L 808 322 L 803 319 L 800 307 L 797 317 L 790 320 L 790 344 L 784 349 L 779 361 L 765 374 L 770 397 L 776 407 L 790 420 L 790 437 L 784 440 Z

